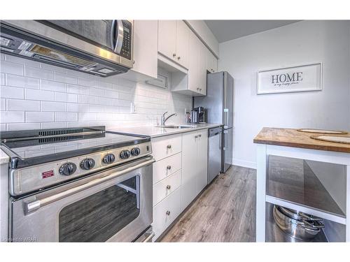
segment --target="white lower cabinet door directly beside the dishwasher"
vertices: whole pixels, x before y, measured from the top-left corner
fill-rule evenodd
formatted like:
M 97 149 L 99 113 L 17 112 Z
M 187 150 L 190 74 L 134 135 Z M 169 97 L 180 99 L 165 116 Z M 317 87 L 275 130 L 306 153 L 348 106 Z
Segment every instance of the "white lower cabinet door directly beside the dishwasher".
M 197 192 L 198 194 L 208 183 L 208 131 L 200 131 L 197 138 Z

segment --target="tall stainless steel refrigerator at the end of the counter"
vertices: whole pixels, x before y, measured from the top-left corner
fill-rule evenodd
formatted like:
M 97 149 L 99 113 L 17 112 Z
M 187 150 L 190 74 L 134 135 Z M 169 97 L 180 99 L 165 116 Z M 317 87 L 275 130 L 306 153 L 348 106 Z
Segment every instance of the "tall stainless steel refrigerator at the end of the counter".
M 197 96 L 194 107 L 207 109 L 208 123 L 223 124 L 221 150 L 221 172 L 232 165 L 233 140 L 233 78 L 228 72 L 209 73 L 207 75 L 207 96 Z

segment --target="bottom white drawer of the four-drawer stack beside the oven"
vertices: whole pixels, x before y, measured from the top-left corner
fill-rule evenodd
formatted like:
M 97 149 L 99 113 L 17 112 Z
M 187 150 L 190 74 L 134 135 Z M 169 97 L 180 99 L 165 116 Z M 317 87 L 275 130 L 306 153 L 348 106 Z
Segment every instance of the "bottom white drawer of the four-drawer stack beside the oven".
M 153 208 L 153 231 L 155 232 L 155 238 L 165 231 L 165 229 L 172 224 L 172 221 L 176 219 L 181 213 L 181 190 L 176 189 L 172 194 L 167 196 L 163 201 L 160 201 L 158 205 Z

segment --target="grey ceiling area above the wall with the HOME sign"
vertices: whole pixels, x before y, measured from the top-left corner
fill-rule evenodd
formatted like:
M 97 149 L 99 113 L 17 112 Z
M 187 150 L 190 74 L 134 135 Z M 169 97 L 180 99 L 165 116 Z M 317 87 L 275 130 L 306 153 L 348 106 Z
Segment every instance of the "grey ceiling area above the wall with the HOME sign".
M 248 36 L 300 20 L 204 20 L 219 43 Z

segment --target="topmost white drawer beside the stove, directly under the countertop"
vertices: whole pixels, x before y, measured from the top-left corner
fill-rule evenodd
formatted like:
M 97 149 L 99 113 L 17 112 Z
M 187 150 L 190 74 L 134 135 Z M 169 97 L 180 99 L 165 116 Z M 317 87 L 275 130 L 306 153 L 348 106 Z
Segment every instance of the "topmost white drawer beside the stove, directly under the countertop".
M 156 161 L 181 152 L 181 135 L 153 138 L 152 152 Z

